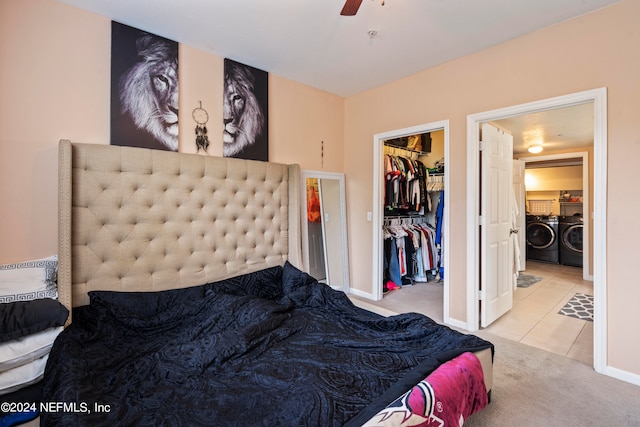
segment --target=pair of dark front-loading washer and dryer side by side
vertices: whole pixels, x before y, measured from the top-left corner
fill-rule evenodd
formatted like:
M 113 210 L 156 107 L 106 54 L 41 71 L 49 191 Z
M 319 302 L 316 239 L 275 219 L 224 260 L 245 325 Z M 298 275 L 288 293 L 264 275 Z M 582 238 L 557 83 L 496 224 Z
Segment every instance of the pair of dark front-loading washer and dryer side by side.
M 581 216 L 527 215 L 527 259 L 582 267 Z

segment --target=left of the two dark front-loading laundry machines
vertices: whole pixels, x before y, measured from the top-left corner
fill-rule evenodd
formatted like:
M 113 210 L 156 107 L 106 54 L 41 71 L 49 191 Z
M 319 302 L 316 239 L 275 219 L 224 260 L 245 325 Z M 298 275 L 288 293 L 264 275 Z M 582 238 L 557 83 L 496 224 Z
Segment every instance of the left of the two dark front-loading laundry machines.
M 558 217 L 527 215 L 527 259 L 560 262 Z

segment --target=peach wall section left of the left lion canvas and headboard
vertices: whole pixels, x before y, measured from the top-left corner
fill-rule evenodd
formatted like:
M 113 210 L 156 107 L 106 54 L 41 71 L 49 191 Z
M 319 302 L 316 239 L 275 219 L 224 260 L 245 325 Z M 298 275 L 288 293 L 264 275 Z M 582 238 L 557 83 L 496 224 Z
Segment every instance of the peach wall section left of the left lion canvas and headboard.
M 0 262 L 57 253 L 58 140 L 108 140 L 109 27 L 97 21 L 0 2 Z

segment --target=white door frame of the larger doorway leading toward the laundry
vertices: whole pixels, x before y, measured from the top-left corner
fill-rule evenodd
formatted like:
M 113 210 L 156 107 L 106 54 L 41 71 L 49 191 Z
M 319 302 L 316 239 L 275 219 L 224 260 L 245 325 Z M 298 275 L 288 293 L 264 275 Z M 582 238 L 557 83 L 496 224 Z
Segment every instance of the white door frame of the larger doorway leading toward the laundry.
M 597 88 L 467 116 L 467 327 L 479 325 L 479 141 L 482 122 L 593 103 L 593 365 L 607 374 L 607 88 Z

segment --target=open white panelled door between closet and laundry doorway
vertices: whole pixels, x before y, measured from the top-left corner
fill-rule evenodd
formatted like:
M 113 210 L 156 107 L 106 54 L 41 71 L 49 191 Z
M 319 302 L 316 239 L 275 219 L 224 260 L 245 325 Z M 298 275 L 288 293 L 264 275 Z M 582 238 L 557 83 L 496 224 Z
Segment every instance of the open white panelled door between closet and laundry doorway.
M 480 326 L 513 306 L 513 137 L 482 125 Z

